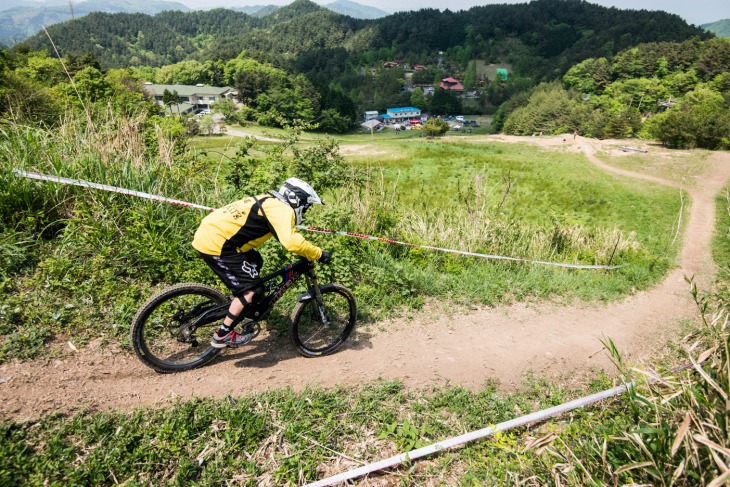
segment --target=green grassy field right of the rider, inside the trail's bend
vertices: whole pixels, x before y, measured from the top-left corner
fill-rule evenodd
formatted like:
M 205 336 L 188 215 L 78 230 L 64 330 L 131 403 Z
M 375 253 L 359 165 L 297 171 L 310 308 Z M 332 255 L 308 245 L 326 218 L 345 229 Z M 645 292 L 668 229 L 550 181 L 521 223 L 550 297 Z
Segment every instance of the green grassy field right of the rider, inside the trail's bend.
M 470 136 L 353 134 L 339 140 L 347 162 L 366 174 L 365 182 L 326 195 L 336 208 L 325 215 L 313 212 L 314 226 L 525 259 L 628 264 L 610 273 L 571 271 L 350 244 L 359 258 L 378 263 L 377 275 L 385 269 L 402 274 L 387 286 L 416 290 L 409 297 L 452 295 L 483 303 L 507 296 L 616 299 L 657 282 L 672 265 L 676 249 L 670 242 L 681 206 L 676 190 L 607 175 L 581 154 Z M 330 213 L 347 205 L 358 210 L 342 226 Z M 323 246 L 340 245 L 333 237 L 313 238 Z M 361 286 L 368 305 L 388 302 L 387 294 L 356 277 L 348 284 Z

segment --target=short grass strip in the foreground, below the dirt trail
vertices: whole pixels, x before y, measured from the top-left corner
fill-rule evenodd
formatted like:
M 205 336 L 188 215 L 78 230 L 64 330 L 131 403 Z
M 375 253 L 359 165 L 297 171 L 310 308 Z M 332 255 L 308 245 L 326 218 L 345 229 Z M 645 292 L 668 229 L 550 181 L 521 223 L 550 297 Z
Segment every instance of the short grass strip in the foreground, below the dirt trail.
M 563 389 L 537 383 L 502 396 L 493 386 L 413 391 L 397 382 L 375 382 L 4 421 L 0 484 L 301 485 L 333 469 L 500 423 L 566 397 Z M 519 472 L 520 463 L 522 470 L 536 463 L 529 454 L 514 456 L 519 437 L 531 431 L 497 435 L 426 459 L 418 468 L 406 465 L 401 482 L 421 485 L 435 478 L 442 485 L 467 485 L 469 478 L 507 478 Z

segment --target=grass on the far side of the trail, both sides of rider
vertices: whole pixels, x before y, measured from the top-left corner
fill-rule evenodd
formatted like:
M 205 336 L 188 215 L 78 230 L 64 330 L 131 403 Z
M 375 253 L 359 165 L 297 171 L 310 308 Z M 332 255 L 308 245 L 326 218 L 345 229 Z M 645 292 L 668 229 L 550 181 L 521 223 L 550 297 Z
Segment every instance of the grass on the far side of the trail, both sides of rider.
M 190 246 L 203 212 L 12 173 L 38 171 L 212 207 L 243 196 L 228 181 L 229 159 L 186 150 L 162 121 L 93 115 L 69 114 L 57 130 L 1 128 L 0 177 L 8 190 L 0 192 L 0 257 L 10 271 L 0 303 L 8 323 L 0 339 L 8 346 L 0 360 L 25 353 L 27 346 L 10 343 L 30 329 L 43 330 L 43 339 L 50 332 L 76 342 L 98 334 L 125 340 L 131 316 L 153 288 L 217 282 Z M 419 308 L 429 296 L 488 304 L 557 295 L 615 299 L 656 282 L 670 265 L 672 253 L 662 255 L 667 245 L 659 243 L 671 234 L 664 229 L 673 194 L 645 196 L 645 188 L 598 179 L 574 156 L 552 160 L 517 146 L 413 140 L 399 147 L 403 153 L 381 168 L 325 195 L 328 205 L 313 209 L 308 223 L 509 257 L 630 265 L 576 272 L 306 234 L 334 251 L 333 265 L 321 269 L 323 282 L 351 286 L 362 321 Z M 288 156 L 281 157 L 277 164 L 286 165 Z M 276 244 L 262 252 L 265 272 L 292 258 Z

